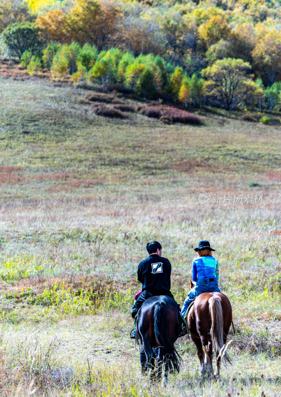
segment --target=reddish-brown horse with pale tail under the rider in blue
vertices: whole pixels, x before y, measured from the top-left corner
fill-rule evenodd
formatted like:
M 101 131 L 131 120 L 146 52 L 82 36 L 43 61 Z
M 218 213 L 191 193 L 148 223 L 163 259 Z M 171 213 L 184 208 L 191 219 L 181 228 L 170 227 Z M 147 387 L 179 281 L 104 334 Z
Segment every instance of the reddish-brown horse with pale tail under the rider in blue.
M 193 288 L 194 284 L 192 281 L 190 283 Z M 213 377 L 213 350 L 216 354 L 215 376 L 219 376 L 221 361 L 230 363 L 225 344 L 231 323 L 232 308 L 227 296 L 219 292 L 205 292 L 195 299 L 187 315 L 187 324 L 197 347 L 202 376 Z

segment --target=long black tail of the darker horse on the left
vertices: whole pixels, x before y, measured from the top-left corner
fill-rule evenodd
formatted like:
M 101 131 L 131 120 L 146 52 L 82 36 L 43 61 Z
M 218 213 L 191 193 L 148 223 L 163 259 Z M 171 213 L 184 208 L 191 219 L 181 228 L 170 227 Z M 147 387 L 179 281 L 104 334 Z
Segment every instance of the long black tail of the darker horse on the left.
M 169 372 L 180 371 L 181 357 L 170 340 L 167 330 L 167 306 L 156 302 L 154 306 L 154 332 L 163 355 L 163 363 Z

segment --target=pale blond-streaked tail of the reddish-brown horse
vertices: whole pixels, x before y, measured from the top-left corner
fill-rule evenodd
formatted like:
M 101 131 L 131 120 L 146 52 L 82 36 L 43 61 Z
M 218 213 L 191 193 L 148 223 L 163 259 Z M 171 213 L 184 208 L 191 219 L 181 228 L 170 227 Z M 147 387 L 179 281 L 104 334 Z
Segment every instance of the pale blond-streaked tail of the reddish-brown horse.
M 209 309 L 211 314 L 211 341 L 216 354 L 219 354 L 224 364 L 229 362 L 230 358 L 226 353 L 226 346 L 223 343 L 223 312 L 221 299 L 219 296 L 212 296 L 209 299 Z

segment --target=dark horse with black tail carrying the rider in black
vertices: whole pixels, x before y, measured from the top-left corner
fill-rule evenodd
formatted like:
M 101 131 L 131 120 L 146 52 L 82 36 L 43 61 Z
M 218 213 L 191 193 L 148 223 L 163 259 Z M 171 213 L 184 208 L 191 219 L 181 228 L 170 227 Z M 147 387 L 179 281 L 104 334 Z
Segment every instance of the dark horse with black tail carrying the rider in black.
M 168 296 L 148 298 L 139 310 L 136 331 L 142 345 L 141 371 L 149 369 L 151 379 L 160 379 L 163 365 L 163 386 L 168 382 L 168 373 L 180 369 L 181 357 L 174 347 L 180 324 L 178 305 Z

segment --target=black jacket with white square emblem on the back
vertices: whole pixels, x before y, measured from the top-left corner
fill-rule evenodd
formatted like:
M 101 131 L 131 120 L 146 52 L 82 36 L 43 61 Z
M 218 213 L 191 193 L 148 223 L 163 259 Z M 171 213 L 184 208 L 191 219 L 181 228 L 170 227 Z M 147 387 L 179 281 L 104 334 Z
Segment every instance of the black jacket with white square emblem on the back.
M 171 288 L 171 268 L 167 258 L 157 254 L 149 255 L 138 267 L 138 280 L 142 283 L 142 291 L 164 295 Z

